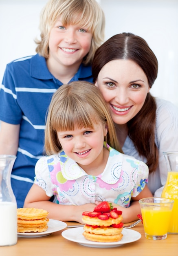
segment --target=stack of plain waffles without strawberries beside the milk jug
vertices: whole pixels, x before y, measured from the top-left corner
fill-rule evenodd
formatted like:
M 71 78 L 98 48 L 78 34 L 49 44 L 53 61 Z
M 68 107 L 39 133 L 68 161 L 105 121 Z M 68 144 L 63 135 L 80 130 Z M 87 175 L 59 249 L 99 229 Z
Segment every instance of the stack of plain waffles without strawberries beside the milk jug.
M 44 232 L 48 229 L 48 211 L 37 208 L 18 208 L 18 232 Z

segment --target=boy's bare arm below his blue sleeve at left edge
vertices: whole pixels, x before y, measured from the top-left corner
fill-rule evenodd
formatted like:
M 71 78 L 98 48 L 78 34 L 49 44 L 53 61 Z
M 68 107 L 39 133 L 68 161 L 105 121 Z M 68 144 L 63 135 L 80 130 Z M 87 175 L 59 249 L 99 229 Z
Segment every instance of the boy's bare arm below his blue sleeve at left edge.
M 16 155 L 19 144 L 20 124 L 0 121 L 0 154 Z

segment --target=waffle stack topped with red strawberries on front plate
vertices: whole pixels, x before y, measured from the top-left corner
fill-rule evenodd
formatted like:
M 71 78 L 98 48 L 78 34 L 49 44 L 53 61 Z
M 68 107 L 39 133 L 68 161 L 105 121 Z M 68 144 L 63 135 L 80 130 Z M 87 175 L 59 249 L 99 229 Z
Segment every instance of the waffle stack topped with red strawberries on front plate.
M 85 223 L 84 237 L 94 242 L 117 242 L 122 239 L 122 211 L 113 208 L 104 201 L 94 211 L 84 211 L 82 220 Z

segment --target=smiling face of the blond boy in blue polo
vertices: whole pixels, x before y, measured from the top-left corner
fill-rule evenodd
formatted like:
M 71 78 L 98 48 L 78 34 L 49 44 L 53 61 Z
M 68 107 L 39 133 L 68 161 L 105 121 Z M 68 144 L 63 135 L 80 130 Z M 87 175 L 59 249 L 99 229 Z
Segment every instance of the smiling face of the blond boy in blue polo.
M 64 26 L 57 20 L 49 36 L 50 67 L 74 67 L 78 69 L 91 46 L 92 32 L 79 25 Z M 51 71 L 51 70 L 50 70 Z

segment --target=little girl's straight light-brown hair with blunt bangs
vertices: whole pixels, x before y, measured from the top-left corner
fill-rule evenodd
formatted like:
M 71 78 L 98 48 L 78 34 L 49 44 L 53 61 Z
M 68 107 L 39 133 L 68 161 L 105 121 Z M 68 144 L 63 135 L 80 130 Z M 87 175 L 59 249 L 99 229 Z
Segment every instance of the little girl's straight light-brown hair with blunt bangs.
M 108 106 L 99 89 L 86 81 L 64 84 L 53 94 L 46 120 L 45 150 L 47 155 L 58 153 L 62 147 L 58 131 L 75 128 L 94 128 L 93 124 L 107 126 L 107 143 L 123 152 L 116 137 L 115 127 Z M 103 138 L 104 141 L 104 138 Z

